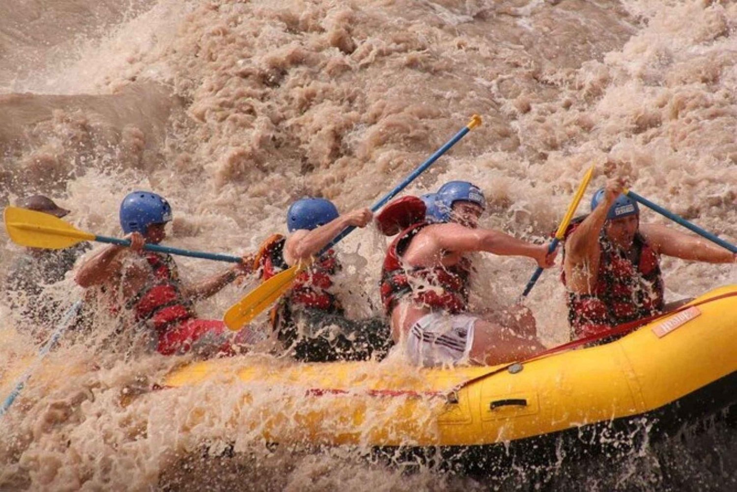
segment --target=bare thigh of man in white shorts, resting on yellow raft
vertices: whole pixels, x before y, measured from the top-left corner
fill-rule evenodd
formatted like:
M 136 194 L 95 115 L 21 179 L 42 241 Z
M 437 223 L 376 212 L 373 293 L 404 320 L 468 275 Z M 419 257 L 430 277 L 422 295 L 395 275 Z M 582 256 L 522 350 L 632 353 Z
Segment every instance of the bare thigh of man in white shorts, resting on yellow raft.
M 522 336 L 497 323 L 477 319 L 469 358 L 477 364 L 496 365 L 519 361 L 545 350 L 534 337 Z

